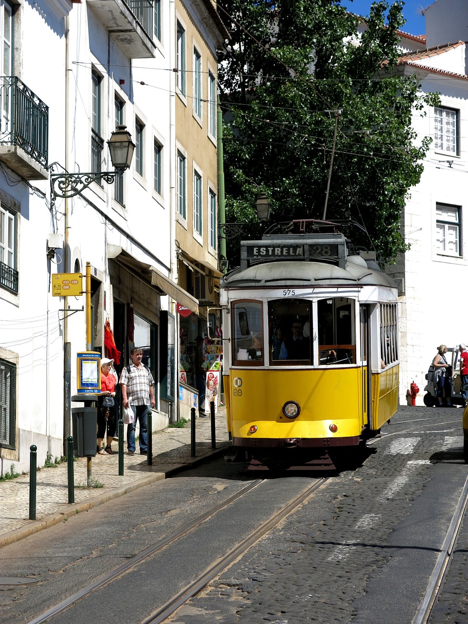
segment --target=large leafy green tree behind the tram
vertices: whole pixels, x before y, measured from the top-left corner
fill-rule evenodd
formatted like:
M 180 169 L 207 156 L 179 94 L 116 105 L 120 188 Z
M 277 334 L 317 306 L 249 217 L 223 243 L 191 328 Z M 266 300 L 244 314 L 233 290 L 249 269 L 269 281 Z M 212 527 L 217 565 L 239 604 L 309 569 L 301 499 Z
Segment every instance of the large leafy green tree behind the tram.
M 227 222 L 259 236 L 260 192 L 276 222 L 323 218 L 333 152 L 326 218 L 363 225 L 354 242 L 381 261 L 406 249 L 401 213 L 429 147 L 411 115 L 437 97 L 397 67 L 402 4 L 375 2 L 358 38 L 340 0 L 218 0 Z

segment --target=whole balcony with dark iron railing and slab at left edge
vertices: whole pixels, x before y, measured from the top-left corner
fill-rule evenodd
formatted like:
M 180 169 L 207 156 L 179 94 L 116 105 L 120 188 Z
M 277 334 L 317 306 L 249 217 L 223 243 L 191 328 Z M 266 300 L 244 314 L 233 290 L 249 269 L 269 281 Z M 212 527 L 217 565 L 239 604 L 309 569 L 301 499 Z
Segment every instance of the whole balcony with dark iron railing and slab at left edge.
M 16 76 L 0 77 L 0 162 L 26 180 L 47 180 L 49 107 Z

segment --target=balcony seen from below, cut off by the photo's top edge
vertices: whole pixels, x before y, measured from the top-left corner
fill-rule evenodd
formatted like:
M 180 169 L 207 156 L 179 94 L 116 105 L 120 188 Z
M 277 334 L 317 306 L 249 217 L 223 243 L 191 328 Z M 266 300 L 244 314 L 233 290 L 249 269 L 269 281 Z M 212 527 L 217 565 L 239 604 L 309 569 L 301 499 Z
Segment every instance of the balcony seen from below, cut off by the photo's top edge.
M 88 0 L 87 4 L 129 59 L 155 57 L 152 0 Z

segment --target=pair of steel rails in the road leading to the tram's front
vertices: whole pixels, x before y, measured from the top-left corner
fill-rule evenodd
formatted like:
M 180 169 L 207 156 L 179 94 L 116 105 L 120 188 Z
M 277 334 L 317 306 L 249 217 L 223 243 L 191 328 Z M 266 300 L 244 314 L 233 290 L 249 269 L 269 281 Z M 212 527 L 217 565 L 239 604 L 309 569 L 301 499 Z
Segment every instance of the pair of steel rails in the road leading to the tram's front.
M 252 544 L 275 527 L 275 525 L 283 520 L 286 515 L 293 512 L 304 500 L 313 494 L 315 490 L 321 487 L 326 480 L 328 480 L 326 477 L 321 478 L 303 490 L 300 494 L 296 495 L 275 514 L 271 515 L 258 528 L 252 530 L 245 539 L 238 542 L 232 550 L 225 555 L 222 555 L 222 557 L 219 557 L 213 565 L 210 565 L 203 570 L 203 572 L 201 572 L 195 580 L 188 584 L 182 591 L 178 592 L 177 595 L 175 595 L 171 600 L 168 600 L 168 602 L 166 602 L 161 608 L 158 608 L 158 610 L 152 613 L 150 617 L 142 620 L 142 624 L 155 624 L 157 622 L 163 622 L 173 612 L 175 612 L 175 610 L 182 606 L 183 603 L 187 602 L 187 600 L 200 592 L 200 590 L 205 587 L 210 580 L 222 572 L 224 568 L 230 565 L 230 563 L 232 563 L 236 558 L 240 557 Z M 87 597 L 90 597 L 93 593 L 97 592 L 97 590 L 110 586 L 113 582 L 119 581 L 125 574 L 132 572 L 132 568 L 136 568 L 140 563 L 145 562 L 145 560 L 150 560 L 150 558 L 157 555 L 169 545 L 175 544 L 178 539 L 181 539 L 185 535 L 189 534 L 192 530 L 197 529 L 197 527 L 202 525 L 207 520 L 212 519 L 216 514 L 218 514 L 218 512 L 225 510 L 229 505 L 244 497 L 248 494 L 248 492 L 251 492 L 251 490 L 255 489 L 263 482 L 265 482 L 265 479 L 257 479 L 248 484 L 246 487 L 243 487 L 239 490 L 239 492 L 236 492 L 236 494 L 233 494 L 216 507 L 207 510 L 207 512 L 183 525 L 180 529 L 175 530 L 162 540 L 155 542 L 155 544 L 152 544 L 149 548 L 146 548 L 139 554 L 135 555 L 135 557 L 132 557 L 129 561 L 122 563 L 122 565 L 95 580 L 95 582 L 90 583 L 87 587 L 82 588 L 79 592 L 65 598 L 65 600 L 62 600 L 59 604 L 49 608 L 46 612 L 31 620 L 28 624 L 41 624 L 43 622 L 52 621 L 52 618 L 71 608 L 72 605 L 82 602 Z

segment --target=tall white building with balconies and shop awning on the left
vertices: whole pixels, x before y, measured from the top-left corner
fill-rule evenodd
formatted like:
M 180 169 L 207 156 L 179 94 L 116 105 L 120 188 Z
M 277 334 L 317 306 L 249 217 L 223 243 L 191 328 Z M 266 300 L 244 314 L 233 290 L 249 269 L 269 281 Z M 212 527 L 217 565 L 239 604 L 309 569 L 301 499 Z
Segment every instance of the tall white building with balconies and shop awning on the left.
M 76 354 L 145 346 L 153 428 L 177 404 L 176 22 L 154 0 L 2 2 L 0 46 L 0 474 L 64 454 Z M 14 42 L 14 47 L 12 46 Z M 17 78 L 22 82 L 17 81 Z M 21 96 L 21 97 L 20 97 Z M 113 172 L 107 140 L 126 125 L 130 169 L 59 197 L 64 172 Z M 47 143 L 48 139 L 48 143 Z M 90 266 L 85 296 L 52 296 L 52 275 Z M 85 280 L 83 280 L 85 290 Z M 168 295 L 168 296 L 166 296 Z M 87 344 L 87 336 L 90 344 Z M 107 354 L 107 352 L 106 352 Z

